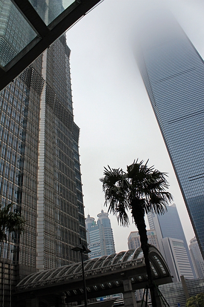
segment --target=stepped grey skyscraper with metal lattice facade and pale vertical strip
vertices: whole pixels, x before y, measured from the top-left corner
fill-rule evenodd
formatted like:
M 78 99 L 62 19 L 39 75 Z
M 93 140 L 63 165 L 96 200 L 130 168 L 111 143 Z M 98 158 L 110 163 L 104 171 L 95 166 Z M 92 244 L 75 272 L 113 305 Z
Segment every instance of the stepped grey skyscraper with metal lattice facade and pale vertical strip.
M 26 218 L 1 244 L 5 306 L 15 281 L 79 261 L 71 248 L 86 242 L 69 59 L 63 35 L 0 93 L 1 202 Z

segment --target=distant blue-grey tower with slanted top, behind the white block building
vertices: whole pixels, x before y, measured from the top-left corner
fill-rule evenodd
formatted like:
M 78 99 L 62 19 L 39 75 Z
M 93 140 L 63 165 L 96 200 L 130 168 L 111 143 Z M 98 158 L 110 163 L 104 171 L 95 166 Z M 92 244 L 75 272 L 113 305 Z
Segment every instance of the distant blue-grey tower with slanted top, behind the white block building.
M 173 204 L 171 206 L 167 206 L 167 212 L 163 215 L 158 215 L 152 212 L 148 213 L 147 218 L 150 229 L 155 229 L 156 231 L 158 245 L 160 246 L 160 251 L 164 257 L 165 257 L 165 250 L 163 246 L 163 238 L 167 237 L 167 238 L 175 238 L 182 240 L 184 247 L 186 249 L 186 253 L 188 255 L 188 259 L 191 265 L 194 278 L 196 278 L 196 273 L 193 267 L 188 244 L 186 241 L 182 223 L 180 222 L 176 205 Z

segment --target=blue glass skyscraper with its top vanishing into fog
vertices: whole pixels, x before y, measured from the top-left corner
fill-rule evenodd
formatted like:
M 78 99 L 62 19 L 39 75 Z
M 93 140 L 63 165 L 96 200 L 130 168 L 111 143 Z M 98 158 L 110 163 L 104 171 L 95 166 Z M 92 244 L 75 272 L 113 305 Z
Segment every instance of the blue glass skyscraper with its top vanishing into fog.
M 203 60 L 165 9 L 150 4 L 139 31 L 141 75 L 204 256 Z

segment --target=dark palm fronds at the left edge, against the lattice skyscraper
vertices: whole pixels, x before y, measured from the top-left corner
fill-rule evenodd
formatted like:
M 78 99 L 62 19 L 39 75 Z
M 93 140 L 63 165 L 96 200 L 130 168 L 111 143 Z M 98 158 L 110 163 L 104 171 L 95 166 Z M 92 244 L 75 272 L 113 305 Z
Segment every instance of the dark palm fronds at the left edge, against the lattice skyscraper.
M 10 211 L 12 205 L 0 205 L 0 243 L 7 242 L 7 232 L 21 234 L 25 228 L 25 218 L 17 211 Z

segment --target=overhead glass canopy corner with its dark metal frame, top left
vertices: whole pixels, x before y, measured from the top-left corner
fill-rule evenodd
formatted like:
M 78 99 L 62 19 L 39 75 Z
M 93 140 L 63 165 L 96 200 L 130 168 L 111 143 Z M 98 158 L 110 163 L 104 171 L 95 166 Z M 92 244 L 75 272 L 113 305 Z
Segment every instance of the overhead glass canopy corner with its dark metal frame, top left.
M 103 0 L 0 0 L 0 91 Z

